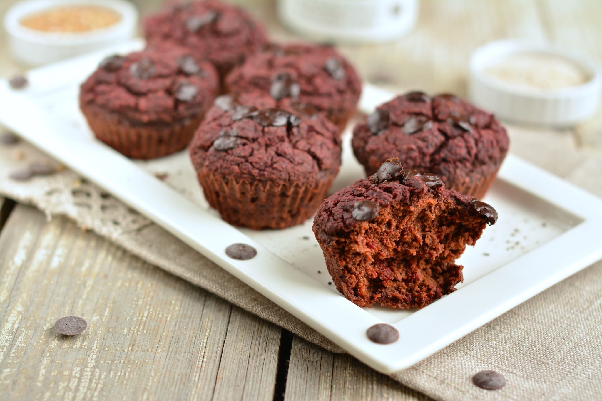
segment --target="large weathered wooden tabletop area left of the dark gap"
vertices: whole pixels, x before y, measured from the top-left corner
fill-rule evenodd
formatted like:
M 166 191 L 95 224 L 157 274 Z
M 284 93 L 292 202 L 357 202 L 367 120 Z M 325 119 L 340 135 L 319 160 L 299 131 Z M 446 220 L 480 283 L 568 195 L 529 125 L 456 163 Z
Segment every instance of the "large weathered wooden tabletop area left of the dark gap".
M 0 278 L 0 394 L 32 400 L 207 399 L 214 388 L 239 398 L 243 391 L 251 399 L 273 394 L 279 328 L 64 218 L 46 222 L 39 211 L 17 206 L 0 234 Z M 55 320 L 69 314 L 87 320 L 84 334 L 54 331 Z M 220 368 L 220 360 L 227 366 Z M 225 390 L 237 383 L 244 385 Z

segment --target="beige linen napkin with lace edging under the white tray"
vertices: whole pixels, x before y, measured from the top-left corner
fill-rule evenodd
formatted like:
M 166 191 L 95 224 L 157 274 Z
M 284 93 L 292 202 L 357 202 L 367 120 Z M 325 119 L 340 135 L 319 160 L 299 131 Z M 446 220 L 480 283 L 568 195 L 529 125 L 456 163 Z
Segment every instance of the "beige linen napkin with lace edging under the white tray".
M 602 155 L 574 150 L 566 132 L 510 130 L 512 150 L 602 195 Z M 542 151 L 543 150 L 543 151 Z M 27 144 L 0 146 L 0 194 L 33 204 L 49 217 L 66 215 L 149 263 L 334 352 L 296 317 L 71 171 L 15 182 L 8 174 L 48 160 Z M 148 167 L 148 166 L 145 166 Z M 161 170 L 161 165 L 154 166 Z M 152 168 L 151 168 L 152 170 Z M 157 171 L 161 173 L 161 171 Z M 170 174 L 178 188 L 186 174 Z M 196 188 L 195 188 L 196 189 Z M 194 194 L 190 194 L 194 198 Z M 199 201 L 199 200 L 196 200 Z M 571 252 L 571 249 L 566 249 Z M 435 399 L 602 399 L 602 263 L 510 310 L 394 379 Z M 507 385 L 487 391 L 474 373 L 502 373 Z

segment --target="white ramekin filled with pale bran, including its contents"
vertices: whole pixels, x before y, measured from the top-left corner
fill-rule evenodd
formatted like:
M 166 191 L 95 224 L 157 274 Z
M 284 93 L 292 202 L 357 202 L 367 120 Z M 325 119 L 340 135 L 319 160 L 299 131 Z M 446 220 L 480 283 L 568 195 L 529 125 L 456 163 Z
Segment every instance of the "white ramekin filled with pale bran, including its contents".
M 571 126 L 597 111 L 601 88 L 594 63 L 551 44 L 494 41 L 470 59 L 468 96 L 503 120 Z

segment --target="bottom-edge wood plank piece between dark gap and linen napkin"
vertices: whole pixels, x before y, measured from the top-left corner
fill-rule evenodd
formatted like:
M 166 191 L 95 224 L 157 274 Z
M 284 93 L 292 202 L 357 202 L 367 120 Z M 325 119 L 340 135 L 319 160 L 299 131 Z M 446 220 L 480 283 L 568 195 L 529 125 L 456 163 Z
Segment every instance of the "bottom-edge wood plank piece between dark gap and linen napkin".
M 297 336 L 285 400 L 429 400 L 346 354 L 332 354 Z

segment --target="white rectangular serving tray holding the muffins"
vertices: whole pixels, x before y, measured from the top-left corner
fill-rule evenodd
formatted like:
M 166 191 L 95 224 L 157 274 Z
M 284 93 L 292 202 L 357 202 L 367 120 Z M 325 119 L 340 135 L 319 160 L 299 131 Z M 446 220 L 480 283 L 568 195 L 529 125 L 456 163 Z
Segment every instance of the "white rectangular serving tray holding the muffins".
M 0 122 L 380 372 L 411 366 L 602 258 L 602 200 L 509 155 L 485 198 L 500 218 L 459 260 L 465 266 L 459 290 L 421 310 L 359 308 L 328 284 L 311 219 L 285 230 L 240 230 L 208 210 L 187 152 L 132 162 L 93 138 L 78 110 L 79 84 L 106 55 L 141 46 L 132 41 L 32 70 L 25 90 L 0 81 Z M 361 109 L 391 96 L 366 85 Z M 343 153 L 333 191 L 363 176 L 349 132 Z M 183 171 L 184 195 L 149 173 L 173 165 Z M 235 242 L 255 246 L 257 256 L 229 259 L 225 248 Z M 382 322 L 399 330 L 396 343 L 368 340 L 366 329 Z

